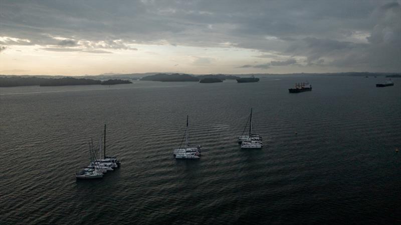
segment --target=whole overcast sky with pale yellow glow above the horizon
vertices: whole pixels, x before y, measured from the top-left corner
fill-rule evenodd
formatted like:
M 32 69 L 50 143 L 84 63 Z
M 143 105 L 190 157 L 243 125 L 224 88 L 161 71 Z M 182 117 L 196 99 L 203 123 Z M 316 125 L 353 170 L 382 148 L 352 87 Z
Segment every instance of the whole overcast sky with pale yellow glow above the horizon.
M 0 74 L 401 72 L 396 1 L 0 1 Z

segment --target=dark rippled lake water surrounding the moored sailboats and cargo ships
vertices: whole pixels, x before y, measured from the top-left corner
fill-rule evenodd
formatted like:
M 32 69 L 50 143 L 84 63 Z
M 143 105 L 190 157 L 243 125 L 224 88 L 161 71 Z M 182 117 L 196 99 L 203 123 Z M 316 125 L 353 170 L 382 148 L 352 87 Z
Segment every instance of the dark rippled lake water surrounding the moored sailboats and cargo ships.
M 0 224 L 399 224 L 393 80 L 0 88 Z M 311 92 L 288 93 L 305 81 Z M 262 150 L 236 143 L 251 107 Z M 186 115 L 199 160 L 172 156 Z M 121 167 L 77 181 L 104 124 Z

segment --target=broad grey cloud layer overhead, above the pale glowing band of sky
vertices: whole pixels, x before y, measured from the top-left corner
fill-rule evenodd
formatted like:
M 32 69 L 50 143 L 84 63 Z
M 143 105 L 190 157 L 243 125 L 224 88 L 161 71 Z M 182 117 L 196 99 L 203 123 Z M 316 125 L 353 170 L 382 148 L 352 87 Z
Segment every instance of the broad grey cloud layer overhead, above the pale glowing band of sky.
M 401 8 L 396 1 L 1 1 L 0 4 L 1 35 L 14 38 L 0 43 L 5 46 L 112 51 L 135 50 L 130 44 L 161 43 L 246 48 L 261 52 L 259 57 L 275 52 L 273 55 L 303 58 L 305 62 L 298 63 L 304 66 L 333 70 L 399 71 L 400 68 Z M 260 67 L 241 68 L 266 69 L 283 63 L 281 58 L 271 58 L 277 60 Z M 291 62 L 288 65 L 296 64 Z

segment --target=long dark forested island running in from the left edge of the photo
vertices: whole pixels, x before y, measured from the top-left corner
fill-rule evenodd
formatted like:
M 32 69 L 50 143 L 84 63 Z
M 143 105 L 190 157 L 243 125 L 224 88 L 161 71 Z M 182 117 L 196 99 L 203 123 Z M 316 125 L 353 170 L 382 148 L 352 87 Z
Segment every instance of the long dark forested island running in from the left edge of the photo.
M 107 80 L 99 81 L 86 78 L 41 78 L 41 77 L 20 77 L 20 76 L 0 76 L 0 87 L 16 86 L 66 86 L 66 85 L 113 85 L 113 84 L 131 84 L 127 80 Z

